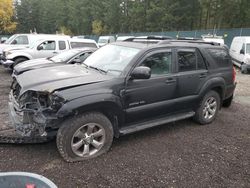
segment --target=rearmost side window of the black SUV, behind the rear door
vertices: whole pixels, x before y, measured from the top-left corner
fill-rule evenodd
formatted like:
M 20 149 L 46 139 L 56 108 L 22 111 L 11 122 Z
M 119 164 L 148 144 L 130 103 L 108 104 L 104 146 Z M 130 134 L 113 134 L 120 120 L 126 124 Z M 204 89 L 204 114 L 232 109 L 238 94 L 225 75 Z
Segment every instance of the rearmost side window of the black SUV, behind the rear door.
M 212 56 L 214 61 L 216 62 L 217 66 L 224 67 L 228 66 L 230 61 L 230 56 L 228 52 L 224 49 L 208 49 L 208 53 Z

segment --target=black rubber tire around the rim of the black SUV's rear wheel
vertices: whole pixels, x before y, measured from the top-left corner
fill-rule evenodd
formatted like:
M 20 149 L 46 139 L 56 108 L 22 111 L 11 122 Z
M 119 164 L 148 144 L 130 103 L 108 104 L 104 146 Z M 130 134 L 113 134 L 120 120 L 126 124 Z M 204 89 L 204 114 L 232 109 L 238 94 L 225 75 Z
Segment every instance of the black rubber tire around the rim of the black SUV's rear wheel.
M 205 118 L 204 117 L 204 109 L 206 108 L 206 103 L 208 102 L 209 99 L 214 99 L 216 101 L 216 109 L 214 111 L 214 114 L 211 118 Z M 199 108 L 195 112 L 194 120 L 201 124 L 201 125 L 206 125 L 209 123 L 212 123 L 214 119 L 217 116 L 217 113 L 220 109 L 220 104 L 221 104 L 221 99 L 219 94 L 216 91 L 209 91 L 202 99 L 202 102 L 199 106 Z

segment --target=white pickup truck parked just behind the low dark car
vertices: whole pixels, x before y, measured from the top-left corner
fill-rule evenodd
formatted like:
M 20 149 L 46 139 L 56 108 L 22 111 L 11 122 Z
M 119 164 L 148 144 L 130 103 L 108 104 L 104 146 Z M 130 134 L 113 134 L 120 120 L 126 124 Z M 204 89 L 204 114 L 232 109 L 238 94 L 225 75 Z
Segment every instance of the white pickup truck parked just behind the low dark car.
M 97 47 L 94 40 L 90 39 L 70 39 L 64 36 L 48 37 L 34 43 L 31 48 L 6 49 L 3 53 L 2 65 L 5 68 L 13 67 L 23 61 L 53 57 L 56 54 L 72 48 Z

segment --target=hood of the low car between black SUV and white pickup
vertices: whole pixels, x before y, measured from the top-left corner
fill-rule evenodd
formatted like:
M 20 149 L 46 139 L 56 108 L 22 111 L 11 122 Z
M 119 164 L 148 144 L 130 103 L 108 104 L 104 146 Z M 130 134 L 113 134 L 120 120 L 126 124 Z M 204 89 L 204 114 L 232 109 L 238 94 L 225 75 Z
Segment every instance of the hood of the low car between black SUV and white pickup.
M 47 58 L 33 59 L 33 60 L 19 63 L 18 65 L 16 65 L 14 67 L 14 71 L 15 71 L 15 73 L 19 74 L 19 73 L 22 73 L 22 72 L 25 72 L 28 70 L 38 69 L 38 68 L 42 68 L 42 67 L 48 67 L 51 64 L 56 64 L 56 63 L 53 63 L 53 61 L 50 61 Z M 61 65 L 61 64 L 57 64 L 57 65 Z

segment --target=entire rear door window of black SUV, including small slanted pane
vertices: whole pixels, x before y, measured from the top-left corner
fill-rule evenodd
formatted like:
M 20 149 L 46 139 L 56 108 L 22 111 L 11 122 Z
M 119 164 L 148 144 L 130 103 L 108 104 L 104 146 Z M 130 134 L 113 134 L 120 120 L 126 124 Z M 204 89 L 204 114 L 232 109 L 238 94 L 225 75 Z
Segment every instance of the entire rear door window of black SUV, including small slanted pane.
M 206 69 L 204 60 L 196 50 L 178 51 L 179 72 Z

